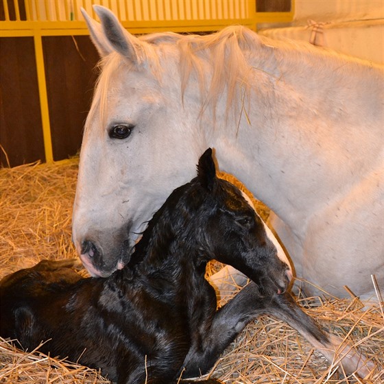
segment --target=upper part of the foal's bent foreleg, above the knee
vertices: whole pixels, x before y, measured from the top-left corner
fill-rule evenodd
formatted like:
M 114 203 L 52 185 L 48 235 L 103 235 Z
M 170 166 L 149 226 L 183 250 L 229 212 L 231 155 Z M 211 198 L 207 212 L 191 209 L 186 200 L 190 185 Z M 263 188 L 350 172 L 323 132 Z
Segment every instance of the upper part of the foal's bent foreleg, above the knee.
M 200 335 L 201 344 L 189 350 L 183 363 L 183 376 L 193 377 L 208 372 L 245 326 L 265 312 L 266 304 L 257 285 L 251 282 L 216 311 L 213 318 L 207 315 L 206 321 L 211 324 L 206 324 L 206 332 Z

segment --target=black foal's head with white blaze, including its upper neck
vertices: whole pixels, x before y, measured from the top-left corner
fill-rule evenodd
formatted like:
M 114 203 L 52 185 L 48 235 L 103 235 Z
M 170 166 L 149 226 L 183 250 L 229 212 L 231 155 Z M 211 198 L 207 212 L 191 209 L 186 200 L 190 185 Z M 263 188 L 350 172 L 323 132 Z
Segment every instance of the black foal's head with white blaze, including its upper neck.
M 292 273 L 285 253 L 248 197 L 217 178 L 211 149 L 201 156 L 197 177 L 171 193 L 149 228 L 156 216 L 163 226 L 156 243 L 177 238 L 176 248 L 185 252 L 187 247 L 197 263 L 215 259 L 232 265 L 259 286 L 262 296 L 287 289 Z M 153 243 L 156 231 L 149 232 Z

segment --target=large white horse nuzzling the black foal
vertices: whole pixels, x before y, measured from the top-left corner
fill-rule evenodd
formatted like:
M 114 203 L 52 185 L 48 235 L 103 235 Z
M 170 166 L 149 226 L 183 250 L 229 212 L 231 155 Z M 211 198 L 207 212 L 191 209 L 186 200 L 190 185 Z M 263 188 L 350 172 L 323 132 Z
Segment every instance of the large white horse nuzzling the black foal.
M 383 67 L 239 26 L 136 38 L 95 11 L 101 24 L 83 14 L 102 70 L 73 211 L 91 274 L 126 263 L 122 250 L 214 147 L 278 216 L 297 276 L 339 297 L 348 286 L 370 298 L 371 275 L 383 287 Z

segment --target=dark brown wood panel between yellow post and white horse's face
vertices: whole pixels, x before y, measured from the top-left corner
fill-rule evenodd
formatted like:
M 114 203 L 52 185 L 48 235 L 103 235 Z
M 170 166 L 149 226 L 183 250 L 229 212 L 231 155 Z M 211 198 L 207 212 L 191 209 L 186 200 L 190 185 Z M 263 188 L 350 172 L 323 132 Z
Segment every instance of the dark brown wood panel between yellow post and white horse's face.
M 44 37 L 43 51 L 53 158 L 62 160 L 80 149 L 99 55 L 89 36 Z

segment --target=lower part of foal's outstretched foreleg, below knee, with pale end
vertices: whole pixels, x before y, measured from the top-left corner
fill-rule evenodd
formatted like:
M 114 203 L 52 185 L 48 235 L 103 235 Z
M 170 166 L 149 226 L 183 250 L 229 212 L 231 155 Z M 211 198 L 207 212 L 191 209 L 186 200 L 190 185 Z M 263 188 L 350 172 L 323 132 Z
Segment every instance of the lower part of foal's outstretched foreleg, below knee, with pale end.
M 347 374 L 364 378 L 374 368 L 371 361 L 340 337 L 320 329 L 320 326 L 300 309 L 289 293 L 276 296 L 267 313 L 284 320 L 304 336 L 333 365 L 342 365 Z

